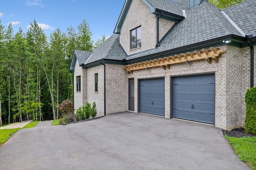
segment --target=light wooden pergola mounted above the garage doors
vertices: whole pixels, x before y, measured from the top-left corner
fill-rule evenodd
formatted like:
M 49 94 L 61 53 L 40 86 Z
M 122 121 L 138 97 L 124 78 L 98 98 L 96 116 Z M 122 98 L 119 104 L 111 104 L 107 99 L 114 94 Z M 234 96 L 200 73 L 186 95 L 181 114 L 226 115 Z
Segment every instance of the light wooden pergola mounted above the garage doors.
M 159 59 L 154 59 L 150 61 L 142 61 L 140 63 L 134 63 L 123 66 L 126 72 L 132 74 L 134 70 L 141 70 L 152 67 L 162 67 L 164 70 L 166 68 L 170 69 L 171 64 L 185 63 L 187 61 L 196 61 L 205 59 L 208 63 L 212 63 L 212 59 L 218 63 L 219 57 L 223 53 L 226 53 L 226 50 L 220 50 L 216 47 L 210 47 L 210 49 L 202 49 L 200 51 L 181 53 L 180 55 L 174 55 Z

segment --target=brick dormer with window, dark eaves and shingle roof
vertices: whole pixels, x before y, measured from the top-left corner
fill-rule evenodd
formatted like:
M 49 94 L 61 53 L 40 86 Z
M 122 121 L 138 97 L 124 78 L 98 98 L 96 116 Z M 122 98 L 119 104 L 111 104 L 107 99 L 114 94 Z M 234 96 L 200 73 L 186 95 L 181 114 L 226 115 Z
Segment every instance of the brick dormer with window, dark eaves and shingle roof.
M 188 2 L 178 1 L 125 1 L 114 33 L 120 34 L 120 44 L 128 55 L 155 49 L 174 23 L 185 18 L 182 9 Z

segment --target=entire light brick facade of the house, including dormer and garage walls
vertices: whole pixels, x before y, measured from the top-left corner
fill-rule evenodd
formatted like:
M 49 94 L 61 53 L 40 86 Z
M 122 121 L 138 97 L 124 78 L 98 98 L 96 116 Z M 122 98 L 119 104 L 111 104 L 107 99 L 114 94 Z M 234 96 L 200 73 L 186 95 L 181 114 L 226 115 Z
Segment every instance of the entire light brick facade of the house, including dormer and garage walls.
M 138 15 L 138 11 L 140 15 Z M 166 35 L 174 22 L 159 20 L 159 40 Z M 130 30 L 141 26 L 142 46 L 130 50 Z M 156 17 L 150 14 L 149 8 L 141 0 L 133 0 L 120 31 L 120 45 L 127 55 L 140 53 L 156 47 Z M 209 48 L 206 46 L 205 48 Z M 172 118 L 172 84 L 175 76 L 196 74 L 215 75 L 215 123 L 216 127 L 231 130 L 244 126 L 246 90 L 250 88 L 250 48 L 224 45 L 218 47 L 226 50 L 219 57 L 218 63 L 212 60 L 209 64 L 205 59 L 190 61 L 189 64 L 171 64 L 170 69 L 152 67 L 148 70 L 134 70 L 128 74 L 122 65 L 106 65 L 106 114 L 128 111 L 128 80 L 134 79 L 134 112 L 140 110 L 139 81 L 148 78 L 164 78 L 165 80 L 165 117 Z M 202 50 L 202 49 L 193 49 Z M 192 51 L 193 51 L 192 50 Z M 183 53 L 186 53 L 184 49 Z M 254 47 L 254 85 L 256 84 L 256 47 Z M 156 56 L 155 59 L 163 56 Z M 145 61 L 148 59 L 145 59 Z M 135 61 L 134 63 L 137 63 Z M 113 62 L 114 63 L 114 62 Z M 98 92 L 95 92 L 94 75 L 98 74 Z M 76 92 L 76 76 L 81 75 L 82 90 Z M 76 63 L 74 71 L 74 107 L 84 105 L 86 101 L 96 102 L 97 116 L 104 115 L 104 66 L 82 69 Z

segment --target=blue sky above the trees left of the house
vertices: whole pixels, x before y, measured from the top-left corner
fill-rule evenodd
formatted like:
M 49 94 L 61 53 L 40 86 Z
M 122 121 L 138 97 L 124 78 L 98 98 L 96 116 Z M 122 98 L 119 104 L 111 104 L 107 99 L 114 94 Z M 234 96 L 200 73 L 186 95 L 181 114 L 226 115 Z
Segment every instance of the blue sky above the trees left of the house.
M 19 27 L 28 30 L 30 22 L 36 20 L 50 36 L 55 29 L 66 32 L 71 25 L 76 28 L 84 19 L 92 31 L 92 39 L 97 41 L 102 35 L 109 37 L 125 0 L 1 0 L 1 24 L 8 28 L 12 22 L 14 33 Z

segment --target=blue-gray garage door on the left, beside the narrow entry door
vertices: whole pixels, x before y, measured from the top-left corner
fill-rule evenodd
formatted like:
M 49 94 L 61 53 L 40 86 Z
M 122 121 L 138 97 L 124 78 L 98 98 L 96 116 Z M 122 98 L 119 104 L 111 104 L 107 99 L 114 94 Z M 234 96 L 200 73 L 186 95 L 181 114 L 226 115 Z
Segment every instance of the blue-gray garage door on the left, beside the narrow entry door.
M 164 116 L 164 78 L 140 80 L 140 112 Z

